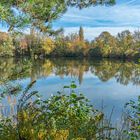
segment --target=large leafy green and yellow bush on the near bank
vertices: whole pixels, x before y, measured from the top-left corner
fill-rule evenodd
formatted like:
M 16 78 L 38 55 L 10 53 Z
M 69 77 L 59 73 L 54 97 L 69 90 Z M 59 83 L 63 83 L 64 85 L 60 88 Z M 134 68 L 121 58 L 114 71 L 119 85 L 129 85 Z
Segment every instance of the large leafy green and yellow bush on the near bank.
M 42 100 L 37 91 L 30 91 L 34 82 L 24 91 L 17 105 L 17 114 L 0 119 L 2 140 L 58 140 L 61 139 L 103 139 L 106 126 L 101 127 L 103 113 L 94 109 L 88 100 L 74 92 L 58 92 Z M 31 100 L 32 98 L 32 100 Z

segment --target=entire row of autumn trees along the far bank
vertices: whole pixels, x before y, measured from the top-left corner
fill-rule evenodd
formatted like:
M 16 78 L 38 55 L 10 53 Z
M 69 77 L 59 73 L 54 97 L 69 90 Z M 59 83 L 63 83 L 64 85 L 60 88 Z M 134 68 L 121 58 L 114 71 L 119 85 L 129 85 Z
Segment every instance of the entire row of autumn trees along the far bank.
M 61 31 L 55 36 L 34 28 L 28 34 L 0 32 L 0 56 L 139 58 L 140 31 L 125 30 L 117 36 L 104 31 L 92 41 L 85 40 L 82 27 L 79 33 Z

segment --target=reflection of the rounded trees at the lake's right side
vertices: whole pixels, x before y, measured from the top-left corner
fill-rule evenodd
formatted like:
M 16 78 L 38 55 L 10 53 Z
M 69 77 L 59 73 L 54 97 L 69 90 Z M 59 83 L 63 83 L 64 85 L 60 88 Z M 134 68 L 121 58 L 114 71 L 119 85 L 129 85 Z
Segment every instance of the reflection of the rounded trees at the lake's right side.
M 140 65 L 133 61 L 103 60 L 93 64 L 91 71 L 102 81 L 108 81 L 114 77 L 118 83 L 123 85 L 130 82 L 140 85 Z

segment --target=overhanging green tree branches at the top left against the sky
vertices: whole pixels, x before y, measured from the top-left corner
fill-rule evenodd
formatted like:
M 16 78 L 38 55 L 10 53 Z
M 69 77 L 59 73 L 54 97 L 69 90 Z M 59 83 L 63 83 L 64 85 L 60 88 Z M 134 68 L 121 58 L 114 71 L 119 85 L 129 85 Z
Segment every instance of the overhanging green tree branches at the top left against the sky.
M 69 6 L 85 8 L 93 5 L 112 5 L 115 0 L 2 0 L 0 21 L 9 26 L 8 31 L 20 30 L 27 26 L 42 32 L 52 33 L 51 23 L 66 12 Z

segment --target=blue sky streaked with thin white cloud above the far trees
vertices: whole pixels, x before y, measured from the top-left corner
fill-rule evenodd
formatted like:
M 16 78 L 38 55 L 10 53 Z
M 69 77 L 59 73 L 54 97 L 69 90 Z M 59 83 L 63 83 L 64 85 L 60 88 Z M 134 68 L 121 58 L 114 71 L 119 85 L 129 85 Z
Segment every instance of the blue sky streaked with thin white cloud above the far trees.
M 123 30 L 138 30 L 140 27 L 140 0 L 116 0 L 115 6 L 97 6 L 82 10 L 69 8 L 53 24 L 63 27 L 65 34 L 78 32 L 83 26 L 85 38 L 92 40 L 102 31 L 117 35 Z

